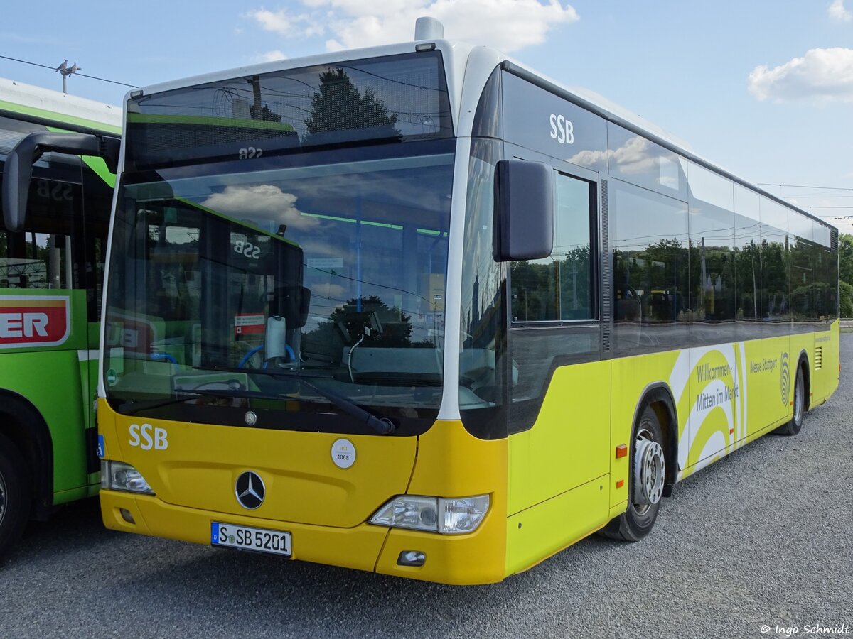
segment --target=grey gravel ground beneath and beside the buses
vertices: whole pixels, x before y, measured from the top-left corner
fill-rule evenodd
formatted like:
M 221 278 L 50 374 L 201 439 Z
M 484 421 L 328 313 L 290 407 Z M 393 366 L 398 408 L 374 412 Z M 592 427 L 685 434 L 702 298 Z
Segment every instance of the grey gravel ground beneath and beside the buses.
M 763 437 L 676 486 L 639 544 L 592 537 L 502 584 L 456 588 L 113 533 L 90 500 L 32 524 L 0 564 L 0 636 L 756 637 L 853 626 L 853 334 L 841 350 L 841 387 L 798 436 Z

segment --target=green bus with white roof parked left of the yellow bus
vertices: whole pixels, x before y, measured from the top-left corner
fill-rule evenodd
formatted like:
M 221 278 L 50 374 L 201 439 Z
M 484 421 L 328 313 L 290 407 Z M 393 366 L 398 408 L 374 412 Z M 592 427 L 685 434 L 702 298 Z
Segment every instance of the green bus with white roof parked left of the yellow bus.
M 118 144 L 121 109 L 0 78 L 0 173 L 33 133 Z M 30 138 L 38 144 L 39 136 Z M 26 522 L 96 495 L 94 401 L 113 171 L 44 153 L 26 226 L 0 229 L 0 556 Z M 11 174 L 10 174 L 11 175 Z

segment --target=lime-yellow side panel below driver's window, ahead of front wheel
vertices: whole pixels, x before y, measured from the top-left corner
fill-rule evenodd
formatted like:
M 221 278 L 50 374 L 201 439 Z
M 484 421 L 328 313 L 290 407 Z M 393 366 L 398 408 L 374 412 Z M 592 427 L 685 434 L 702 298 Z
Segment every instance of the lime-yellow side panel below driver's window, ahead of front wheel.
M 507 574 L 608 520 L 610 375 L 610 361 L 558 368 L 536 423 L 509 436 Z

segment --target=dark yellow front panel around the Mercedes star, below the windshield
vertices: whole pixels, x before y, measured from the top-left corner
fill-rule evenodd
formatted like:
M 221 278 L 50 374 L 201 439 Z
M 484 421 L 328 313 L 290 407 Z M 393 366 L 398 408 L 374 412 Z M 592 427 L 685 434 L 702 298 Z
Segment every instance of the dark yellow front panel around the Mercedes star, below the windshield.
M 165 504 L 223 516 L 248 514 L 236 499 L 235 483 L 254 470 L 266 497 L 253 518 L 355 527 L 406 491 L 415 461 L 415 437 L 346 435 L 357 456 L 351 468 L 341 469 L 332 461 L 332 446 L 343 435 L 125 417 L 105 402 L 100 406 L 99 423 L 114 424 L 113 440 L 105 441 L 108 457 L 131 463 Z M 131 446 L 131 424 L 165 430 L 165 449 Z

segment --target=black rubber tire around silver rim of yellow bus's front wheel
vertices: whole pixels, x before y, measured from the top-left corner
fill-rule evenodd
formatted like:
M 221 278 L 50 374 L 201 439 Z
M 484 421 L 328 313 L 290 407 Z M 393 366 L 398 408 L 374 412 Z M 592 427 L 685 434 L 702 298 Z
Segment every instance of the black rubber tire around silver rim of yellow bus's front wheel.
M 642 443 L 641 440 L 651 440 L 661 447 L 663 452 L 664 434 L 660 428 L 658 415 L 650 406 L 646 406 L 640 415 L 640 420 L 634 429 L 634 440 L 631 442 L 630 452 L 630 471 L 628 476 L 628 509 L 622 515 L 612 519 L 610 523 L 601 530 L 601 534 L 612 539 L 621 541 L 640 541 L 648 533 L 652 531 L 655 520 L 658 519 L 658 511 L 660 509 L 660 499 L 663 494 L 663 488 L 666 481 L 666 466 L 664 464 L 665 456 L 659 458 L 659 469 L 656 469 L 652 475 L 656 477 L 654 481 L 653 493 L 657 496 L 653 499 L 652 504 L 635 503 L 634 492 L 634 477 L 637 446 Z

